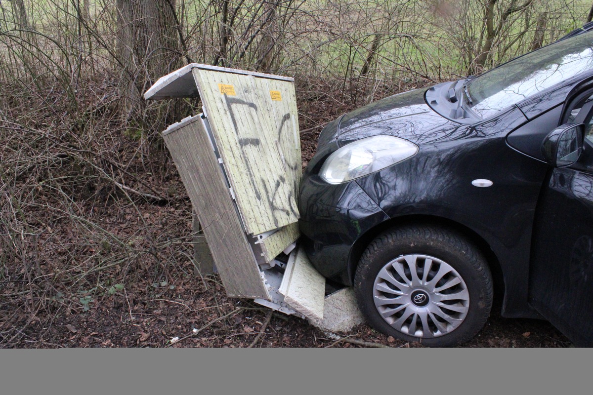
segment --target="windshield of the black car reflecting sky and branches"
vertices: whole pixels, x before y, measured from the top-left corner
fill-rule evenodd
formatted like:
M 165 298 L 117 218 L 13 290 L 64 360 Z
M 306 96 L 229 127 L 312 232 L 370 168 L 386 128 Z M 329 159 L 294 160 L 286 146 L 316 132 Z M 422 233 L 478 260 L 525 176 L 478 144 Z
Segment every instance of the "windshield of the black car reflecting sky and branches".
M 593 69 L 593 31 L 525 54 L 474 79 L 466 105 L 482 118 L 531 97 L 578 73 Z

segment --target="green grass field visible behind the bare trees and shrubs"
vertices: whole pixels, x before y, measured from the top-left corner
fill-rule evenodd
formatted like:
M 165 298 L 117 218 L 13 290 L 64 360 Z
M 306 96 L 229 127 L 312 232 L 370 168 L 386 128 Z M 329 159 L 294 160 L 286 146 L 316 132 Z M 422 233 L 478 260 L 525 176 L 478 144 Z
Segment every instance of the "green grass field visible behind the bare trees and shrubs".
M 438 14 L 431 8 L 430 2 L 307 0 L 301 5 L 300 11 L 293 15 L 292 24 L 286 25 L 289 42 L 282 53 L 282 65 L 294 63 L 291 69 L 295 72 L 311 72 L 315 65 L 318 73 L 345 79 L 356 77 L 365 63 L 375 34 L 380 32 L 384 36 L 374 57 L 376 70 L 394 76 L 398 73 L 419 73 L 434 78 L 464 75 L 468 62 L 479 50 L 479 33 L 483 24 L 482 6 L 479 2 L 467 1 L 470 12 L 461 24 L 451 19 L 452 14 Z M 80 4 L 82 6 L 84 0 L 80 0 Z M 190 52 L 206 43 L 205 49 L 210 53 L 200 52 L 196 56 L 206 61 L 213 59 L 213 53 L 219 45 L 221 9 L 216 8 L 219 4 L 199 0 L 178 0 L 176 4 L 179 18 L 184 23 L 184 36 Z M 236 0 L 232 1 L 230 9 L 237 4 Z M 260 9 L 259 4 L 257 0 L 244 2 L 235 19 L 230 43 L 234 45 L 235 56 L 240 52 L 237 49 L 246 45 L 246 42 L 232 40 L 241 36 L 251 37 L 257 31 L 258 23 L 251 25 L 249 33 L 243 34 L 254 12 L 259 11 L 258 18 L 262 18 L 265 9 Z M 294 4 L 299 4 L 299 1 Z M 507 7 L 509 1 L 500 0 L 499 4 Z M 70 45 L 76 42 L 78 23 L 72 0 L 25 0 L 25 5 L 30 22 L 40 33 L 55 40 L 65 40 L 67 44 L 72 43 Z M 88 0 L 88 5 L 94 30 L 106 40 L 113 39 L 117 30 L 115 0 Z M 2 3 L 2 7 L 7 12 L 11 10 L 10 3 Z M 493 64 L 527 52 L 533 40 L 533 28 L 523 39 L 511 44 L 505 53 L 499 50 L 521 34 L 526 25 L 533 26 L 538 13 L 559 10 L 549 14 L 548 27 L 553 31 L 544 37 L 546 44 L 580 27 L 590 5 L 576 0 L 566 5 L 565 0 L 552 0 L 548 5 L 535 2 L 533 7 L 530 24 L 524 17 L 516 20 L 509 18 L 506 38 L 500 41 L 492 54 Z M 9 25 L 7 21 L 0 22 Z M 321 29 L 318 28 L 320 24 L 323 27 Z M 473 32 L 468 41 L 471 53 L 464 52 L 464 43 L 458 39 L 463 31 Z M 400 36 L 389 37 L 394 32 Z M 411 34 L 414 38 L 401 36 L 403 34 Z M 247 59 L 250 57 L 244 58 Z

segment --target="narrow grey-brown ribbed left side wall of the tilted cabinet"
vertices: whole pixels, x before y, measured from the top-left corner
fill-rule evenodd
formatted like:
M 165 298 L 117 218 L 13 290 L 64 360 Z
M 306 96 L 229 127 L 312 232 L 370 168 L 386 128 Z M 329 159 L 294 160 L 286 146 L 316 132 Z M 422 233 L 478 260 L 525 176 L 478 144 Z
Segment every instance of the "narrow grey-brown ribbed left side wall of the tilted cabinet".
M 229 296 L 269 299 L 199 115 L 165 130 L 177 166 Z

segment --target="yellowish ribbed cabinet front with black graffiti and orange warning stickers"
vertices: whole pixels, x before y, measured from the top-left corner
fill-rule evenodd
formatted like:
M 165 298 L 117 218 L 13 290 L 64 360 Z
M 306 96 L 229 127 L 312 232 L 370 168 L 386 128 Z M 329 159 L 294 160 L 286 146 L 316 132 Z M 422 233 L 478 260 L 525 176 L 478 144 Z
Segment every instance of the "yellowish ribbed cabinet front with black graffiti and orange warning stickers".
M 301 160 L 293 83 L 199 68 L 193 75 L 246 232 L 295 223 Z

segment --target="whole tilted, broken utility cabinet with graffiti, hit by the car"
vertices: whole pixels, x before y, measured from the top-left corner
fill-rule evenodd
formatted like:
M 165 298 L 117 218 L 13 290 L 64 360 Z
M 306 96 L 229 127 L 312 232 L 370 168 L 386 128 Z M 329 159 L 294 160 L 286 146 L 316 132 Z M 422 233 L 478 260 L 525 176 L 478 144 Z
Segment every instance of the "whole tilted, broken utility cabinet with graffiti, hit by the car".
M 320 323 L 325 279 L 295 248 L 301 148 L 294 80 L 192 63 L 145 99 L 200 97 L 162 132 L 229 296 Z

